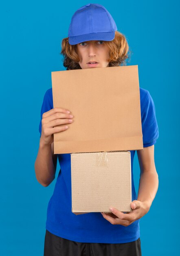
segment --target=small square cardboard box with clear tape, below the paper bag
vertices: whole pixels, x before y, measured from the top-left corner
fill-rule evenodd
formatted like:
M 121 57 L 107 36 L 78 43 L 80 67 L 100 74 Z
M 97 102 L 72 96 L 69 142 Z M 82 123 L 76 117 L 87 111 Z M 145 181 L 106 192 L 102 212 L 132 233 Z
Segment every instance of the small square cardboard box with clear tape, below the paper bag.
M 131 154 L 111 151 L 71 154 L 72 212 L 131 212 Z

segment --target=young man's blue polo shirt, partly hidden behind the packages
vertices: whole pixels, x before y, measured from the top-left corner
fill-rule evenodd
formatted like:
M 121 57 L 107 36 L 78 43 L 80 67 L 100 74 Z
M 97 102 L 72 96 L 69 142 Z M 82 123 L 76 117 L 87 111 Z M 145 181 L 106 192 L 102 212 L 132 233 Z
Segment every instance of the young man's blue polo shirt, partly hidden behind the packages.
M 42 114 L 53 108 L 52 88 L 44 94 L 41 108 L 39 132 L 42 131 Z M 143 132 L 143 146 L 148 147 L 158 139 L 158 124 L 155 115 L 154 101 L 149 91 L 140 88 L 140 108 Z M 132 168 L 132 201 L 137 200 L 133 180 L 133 159 L 135 150 L 130 150 Z M 53 195 L 48 208 L 46 229 L 62 238 L 82 243 L 128 243 L 140 237 L 139 220 L 128 227 L 112 225 L 101 213 L 72 213 L 71 202 L 71 163 L 70 154 L 58 155 L 60 171 L 55 183 Z

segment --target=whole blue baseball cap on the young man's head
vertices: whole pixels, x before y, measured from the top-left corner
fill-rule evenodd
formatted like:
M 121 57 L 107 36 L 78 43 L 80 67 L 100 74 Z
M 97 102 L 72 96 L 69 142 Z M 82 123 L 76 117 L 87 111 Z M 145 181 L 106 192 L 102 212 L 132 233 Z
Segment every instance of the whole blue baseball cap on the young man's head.
M 72 16 L 68 38 L 70 45 L 89 40 L 112 41 L 117 30 L 111 14 L 101 4 L 86 4 Z

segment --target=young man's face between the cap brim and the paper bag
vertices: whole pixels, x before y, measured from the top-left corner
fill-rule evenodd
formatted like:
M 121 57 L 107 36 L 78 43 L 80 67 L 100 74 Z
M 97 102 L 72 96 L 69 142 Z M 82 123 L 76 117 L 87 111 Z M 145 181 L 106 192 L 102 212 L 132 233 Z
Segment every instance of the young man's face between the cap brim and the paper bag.
M 109 49 L 104 41 L 90 40 L 77 44 L 79 65 L 82 69 L 94 67 L 109 67 Z M 96 64 L 88 64 L 97 62 Z

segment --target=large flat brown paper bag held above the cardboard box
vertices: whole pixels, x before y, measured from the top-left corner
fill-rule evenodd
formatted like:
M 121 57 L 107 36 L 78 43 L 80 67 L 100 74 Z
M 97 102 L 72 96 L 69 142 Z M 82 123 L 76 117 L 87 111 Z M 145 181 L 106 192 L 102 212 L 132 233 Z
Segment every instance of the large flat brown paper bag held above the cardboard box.
M 52 88 L 54 108 L 74 115 L 55 154 L 143 149 L 138 65 L 52 72 Z

